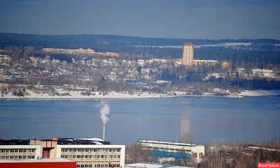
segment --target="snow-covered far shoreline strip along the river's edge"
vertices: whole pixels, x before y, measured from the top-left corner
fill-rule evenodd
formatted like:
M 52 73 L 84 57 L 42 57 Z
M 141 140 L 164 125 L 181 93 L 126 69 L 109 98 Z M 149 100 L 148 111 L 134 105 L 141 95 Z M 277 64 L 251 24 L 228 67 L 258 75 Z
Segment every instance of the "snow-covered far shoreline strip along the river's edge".
M 63 93 L 63 92 L 62 92 Z M 176 95 L 172 95 L 176 93 Z M 91 96 L 82 96 L 79 91 L 72 92 L 71 96 L 50 96 L 48 94 L 36 94 L 32 93 L 30 96 L 18 97 L 13 96 L 9 93 L 6 96 L 1 97 L 0 100 L 100 100 L 100 99 L 111 99 L 111 100 L 134 100 L 134 99 L 153 99 L 153 98 L 244 98 L 244 97 L 255 97 L 255 96 L 280 96 L 280 90 L 271 90 L 271 91 L 241 91 L 241 93 L 228 93 L 225 96 L 216 96 L 214 93 L 202 93 L 202 95 L 186 95 L 186 92 L 174 91 L 169 94 L 162 93 L 141 93 L 130 95 L 128 93 L 116 93 L 110 92 L 103 95 L 91 95 Z

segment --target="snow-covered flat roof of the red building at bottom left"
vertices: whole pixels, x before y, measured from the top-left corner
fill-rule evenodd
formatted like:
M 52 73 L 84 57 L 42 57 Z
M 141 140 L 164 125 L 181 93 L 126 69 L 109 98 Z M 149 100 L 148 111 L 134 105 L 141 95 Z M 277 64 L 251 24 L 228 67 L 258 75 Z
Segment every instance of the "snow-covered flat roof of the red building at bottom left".
M 12 159 L 1 159 L 1 162 L 75 162 L 72 160 L 67 160 L 64 158 L 55 158 L 55 159 L 22 159 L 22 160 L 12 160 Z

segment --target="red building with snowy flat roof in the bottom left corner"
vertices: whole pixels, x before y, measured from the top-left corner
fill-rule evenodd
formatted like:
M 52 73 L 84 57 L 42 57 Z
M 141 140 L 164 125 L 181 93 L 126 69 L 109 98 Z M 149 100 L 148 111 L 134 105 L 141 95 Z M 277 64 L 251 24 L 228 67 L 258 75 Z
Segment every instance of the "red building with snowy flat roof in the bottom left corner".
M 66 159 L 0 160 L 1 168 L 76 168 L 76 162 Z

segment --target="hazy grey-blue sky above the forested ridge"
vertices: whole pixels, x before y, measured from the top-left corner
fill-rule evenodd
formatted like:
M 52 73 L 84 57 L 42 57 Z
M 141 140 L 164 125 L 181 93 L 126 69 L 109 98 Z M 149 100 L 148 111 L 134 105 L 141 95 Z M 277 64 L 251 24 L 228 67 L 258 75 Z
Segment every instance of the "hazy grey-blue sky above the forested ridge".
M 0 32 L 280 39 L 280 0 L 0 0 Z

